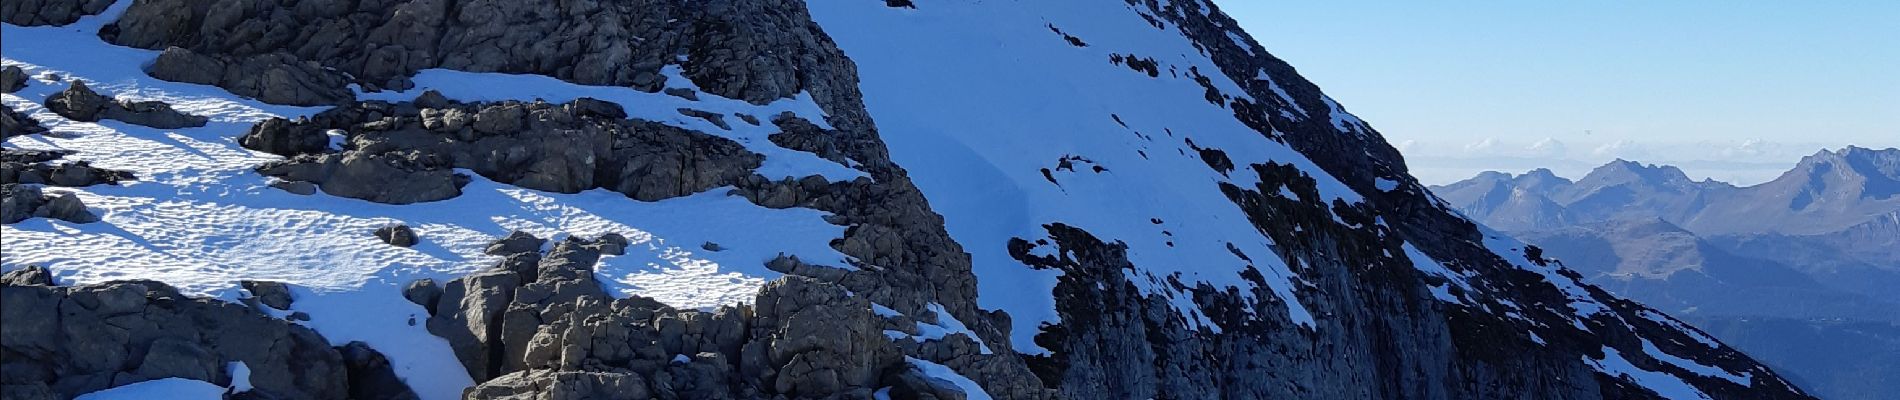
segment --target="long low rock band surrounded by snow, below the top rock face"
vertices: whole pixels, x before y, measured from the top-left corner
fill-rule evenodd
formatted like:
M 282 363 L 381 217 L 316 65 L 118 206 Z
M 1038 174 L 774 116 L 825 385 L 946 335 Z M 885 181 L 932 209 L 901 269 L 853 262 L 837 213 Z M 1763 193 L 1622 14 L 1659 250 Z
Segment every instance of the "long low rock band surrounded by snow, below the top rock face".
M 331 129 L 346 131 L 346 150 L 317 154 Z M 606 188 L 657 201 L 730 186 L 764 161 L 737 142 L 627 119 L 618 104 L 593 99 L 452 102 L 424 93 L 414 102 L 357 102 L 310 119 L 262 121 L 239 142 L 294 155 L 260 167 L 264 174 L 378 203 L 454 197 L 462 180 L 450 169 L 530 190 Z

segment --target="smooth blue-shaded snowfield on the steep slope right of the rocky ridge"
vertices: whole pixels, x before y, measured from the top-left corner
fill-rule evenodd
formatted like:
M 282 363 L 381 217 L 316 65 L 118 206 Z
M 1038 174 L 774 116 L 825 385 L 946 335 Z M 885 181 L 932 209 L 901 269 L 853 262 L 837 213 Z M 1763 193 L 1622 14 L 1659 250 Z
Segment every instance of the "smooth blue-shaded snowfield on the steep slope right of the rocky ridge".
M 1326 201 L 1362 197 L 1305 155 L 1241 125 L 1231 110 L 1206 102 L 1205 89 L 1188 78 L 1189 66 L 1227 95 L 1244 91 L 1180 32 L 1129 28 L 1148 21 L 1121 2 L 935 2 L 929 11 L 880 2 L 809 8 L 857 63 L 866 108 L 893 161 L 910 171 L 931 209 L 944 214 L 952 239 L 971 252 L 978 305 L 1013 317 L 1016 351 L 1045 353 L 1032 337 L 1043 322 L 1058 318 L 1051 288 L 1060 273 L 1028 269 L 1009 258 L 1005 243 L 1013 237 L 1034 243 L 1047 235 L 1041 226 L 1053 222 L 1129 245 L 1129 260 L 1144 275 L 1180 273 L 1188 284 L 1244 288 L 1250 282 L 1239 271 L 1246 264 L 1227 252 L 1233 241 L 1284 300 L 1292 320 L 1313 326 L 1313 315 L 1294 296 L 1298 277 L 1218 190 L 1220 182 L 1252 188 L 1258 176 L 1250 169 L 1233 176 L 1214 173 L 1186 140 L 1220 148 L 1237 165 L 1290 163 L 1319 180 Z M 1049 25 L 1091 45 L 1068 45 L 1051 36 Z M 1163 74 L 1150 78 L 1110 64 L 1112 53 L 1153 57 Z M 1087 157 L 1108 171 L 1054 171 L 1064 155 Z M 1051 169 L 1060 184 L 1047 182 L 1041 169 Z M 1146 294 L 1174 292 L 1146 277 L 1134 282 Z M 1184 315 L 1197 313 L 1186 296 L 1174 298 Z M 1206 326 L 1199 318 L 1189 324 Z

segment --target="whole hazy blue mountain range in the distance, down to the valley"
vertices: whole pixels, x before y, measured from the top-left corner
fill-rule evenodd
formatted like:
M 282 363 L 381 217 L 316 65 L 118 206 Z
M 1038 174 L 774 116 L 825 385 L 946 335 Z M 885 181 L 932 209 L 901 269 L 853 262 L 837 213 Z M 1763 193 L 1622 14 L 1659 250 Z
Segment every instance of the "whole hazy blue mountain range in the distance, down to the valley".
M 1594 284 L 1720 326 L 1824 398 L 1900 392 L 1866 362 L 1835 362 L 1900 360 L 1896 148 L 1824 150 L 1756 186 L 1617 159 L 1577 180 L 1535 169 L 1431 190 Z

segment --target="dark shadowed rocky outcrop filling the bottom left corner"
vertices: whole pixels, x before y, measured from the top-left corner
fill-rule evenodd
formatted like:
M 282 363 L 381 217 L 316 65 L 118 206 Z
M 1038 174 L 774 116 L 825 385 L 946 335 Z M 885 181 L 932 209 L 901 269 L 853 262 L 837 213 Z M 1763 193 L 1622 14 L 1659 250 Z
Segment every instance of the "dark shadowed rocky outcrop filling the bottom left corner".
M 4 392 L 72 398 L 110 387 L 184 377 L 230 385 L 230 362 L 251 370 L 258 398 L 403 398 L 407 387 L 352 385 L 357 373 L 310 328 L 150 281 L 49 286 L 27 267 L 0 279 Z M 84 339 L 66 339 L 84 337 Z M 353 349 L 363 353 L 367 349 Z M 363 358 L 380 358 L 359 355 Z M 365 392 L 361 389 L 378 389 Z M 391 394 L 393 392 L 393 394 Z M 410 394 L 414 396 L 414 394 Z

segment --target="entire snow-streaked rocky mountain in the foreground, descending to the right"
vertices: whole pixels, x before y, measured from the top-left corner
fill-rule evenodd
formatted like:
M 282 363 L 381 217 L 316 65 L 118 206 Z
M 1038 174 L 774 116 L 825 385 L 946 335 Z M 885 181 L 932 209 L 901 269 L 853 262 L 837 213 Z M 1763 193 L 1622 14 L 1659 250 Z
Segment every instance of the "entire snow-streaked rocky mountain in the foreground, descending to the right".
M 122 0 L 6 21 L 11 76 L 72 82 L 6 97 L 49 131 L 8 150 L 139 178 L 72 188 L 95 224 L 6 227 L 10 398 L 167 377 L 258 398 L 1809 398 L 1461 218 L 1205 2 Z M 887 53 L 969 36 L 1011 45 Z M 982 68 L 1011 51 L 1051 59 Z M 952 59 L 977 68 L 906 64 Z M 1028 85 L 1070 72 L 1094 82 Z M 992 110 L 1039 95 L 1068 100 Z

